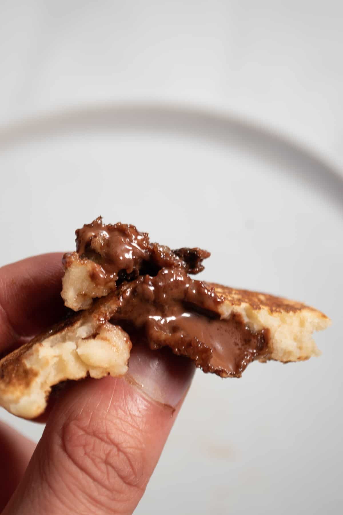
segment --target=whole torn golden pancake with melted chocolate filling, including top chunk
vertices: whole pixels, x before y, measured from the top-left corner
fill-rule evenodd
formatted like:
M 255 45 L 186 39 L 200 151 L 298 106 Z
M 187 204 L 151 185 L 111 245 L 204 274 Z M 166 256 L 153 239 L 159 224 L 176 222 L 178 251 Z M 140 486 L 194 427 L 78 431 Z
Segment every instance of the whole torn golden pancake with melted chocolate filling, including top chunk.
M 39 416 L 61 381 L 124 375 L 136 338 L 221 377 L 240 377 L 255 360 L 319 355 L 312 333 L 328 317 L 280 297 L 191 279 L 203 269 L 205 250 L 151 244 L 134 226 L 105 226 L 101 218 L 76 235 L 77 252 L 64 256 L 62 296 L 78 313 L 0 361 L 0 405 L 15 415 Z

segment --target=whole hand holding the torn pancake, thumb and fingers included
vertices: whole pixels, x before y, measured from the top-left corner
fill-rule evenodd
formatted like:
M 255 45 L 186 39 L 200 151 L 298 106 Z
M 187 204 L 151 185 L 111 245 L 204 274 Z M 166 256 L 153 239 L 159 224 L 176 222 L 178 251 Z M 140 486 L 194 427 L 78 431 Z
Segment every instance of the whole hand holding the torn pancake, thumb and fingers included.
M 0 268 L 0 353 L 62 316 L 61 256 Z M 37 447 L 0 423 L 0 512 L 132 513 L 193 373 L 190 361 L 167 350 L 134 347 L 129 377 L 67 384 L 41 418 Z

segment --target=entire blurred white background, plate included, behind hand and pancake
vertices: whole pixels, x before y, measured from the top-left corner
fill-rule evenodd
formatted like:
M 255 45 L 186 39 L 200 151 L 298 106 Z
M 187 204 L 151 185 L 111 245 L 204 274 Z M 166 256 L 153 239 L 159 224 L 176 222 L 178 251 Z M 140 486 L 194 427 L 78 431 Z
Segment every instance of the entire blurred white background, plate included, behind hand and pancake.
M 342 512 L 342 22 L 330 0 L 0 3 L 0 265 L 101 214 L 333 320 L 320 358 L 197 371 L 138 514 Z

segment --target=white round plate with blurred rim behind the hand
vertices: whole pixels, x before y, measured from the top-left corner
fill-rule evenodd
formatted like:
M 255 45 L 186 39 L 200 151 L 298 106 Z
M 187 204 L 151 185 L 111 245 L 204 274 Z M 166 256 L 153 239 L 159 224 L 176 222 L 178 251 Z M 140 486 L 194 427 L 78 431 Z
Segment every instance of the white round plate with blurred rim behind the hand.
M 102 214 L 212 257 L 202 277 L 314 305 L 323 355 L 198 372 L 137 513 L 338 513 L 343 181 L 327 164 L 215 113 L 109 106 L 3 131 L 1 264 L 74 247 Z M 10 417 L 39 438 L 41 427 Z

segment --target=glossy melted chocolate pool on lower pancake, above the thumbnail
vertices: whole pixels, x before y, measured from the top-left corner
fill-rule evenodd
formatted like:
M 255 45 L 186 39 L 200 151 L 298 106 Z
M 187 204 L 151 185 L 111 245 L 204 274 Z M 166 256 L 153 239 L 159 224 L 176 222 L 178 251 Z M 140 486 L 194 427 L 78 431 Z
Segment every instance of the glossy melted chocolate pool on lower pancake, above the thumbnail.
M 184 270 L 164 268 L 156 277 L 122 288 L 111 322 L 146 339 L 151 349 L 168 346 L 188 356 L 204 372 L 240 377 L 251 361 L 266 354 L 267 334 L 250 331 L 238 314 L 221 319 L 221 303 L 213 288 Z

